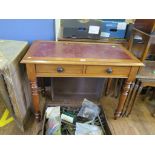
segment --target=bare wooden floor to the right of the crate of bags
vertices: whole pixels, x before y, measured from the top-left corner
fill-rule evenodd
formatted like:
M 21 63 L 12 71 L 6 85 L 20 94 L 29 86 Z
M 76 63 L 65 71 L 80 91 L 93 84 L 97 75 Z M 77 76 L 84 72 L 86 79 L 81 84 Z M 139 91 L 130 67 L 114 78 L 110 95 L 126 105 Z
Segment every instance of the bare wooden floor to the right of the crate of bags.
M 111 97 L 102 99 L 102 106 L 108 119 L 109 127 L 114 135 L 154 135 L 155 118 L 152 113 L 155 110 L 155 101 L 139 97 L 129 117 L 113 119 L 117 100 Z

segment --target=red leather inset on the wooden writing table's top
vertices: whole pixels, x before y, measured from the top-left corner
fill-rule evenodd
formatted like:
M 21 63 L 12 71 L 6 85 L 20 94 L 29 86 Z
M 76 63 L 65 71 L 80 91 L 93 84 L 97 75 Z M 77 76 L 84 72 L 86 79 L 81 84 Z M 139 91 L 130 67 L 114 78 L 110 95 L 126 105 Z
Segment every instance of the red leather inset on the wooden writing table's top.
M 36 41 L 29 49 L 31 57 L 131 59 L 117 44 Z

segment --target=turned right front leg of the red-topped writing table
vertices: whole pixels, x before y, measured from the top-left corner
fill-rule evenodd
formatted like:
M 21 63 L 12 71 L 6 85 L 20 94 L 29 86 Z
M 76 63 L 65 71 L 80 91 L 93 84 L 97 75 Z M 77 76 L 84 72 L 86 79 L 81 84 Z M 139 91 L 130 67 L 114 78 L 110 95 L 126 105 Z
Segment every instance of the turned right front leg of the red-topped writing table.
M 114 114 L 114 119 L 117 119 L 122 114 L 122 110 L 123 110 L 123 107 L 125 104 L 125 100 L 128 96 L 128 92 L 130 90 L 131 83 L 132 83 L 131 81 L 128 81 L 128 80 L 125 81 L 125 84 L 123 86 L 123 89 L 122 89 L 122 92 L 121 92 L 121 95 L 119 98 L 119 103 L 118 103 L 117 109 L 116 109 L 115 114 Z

